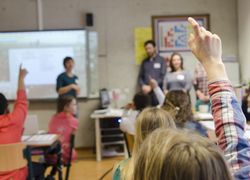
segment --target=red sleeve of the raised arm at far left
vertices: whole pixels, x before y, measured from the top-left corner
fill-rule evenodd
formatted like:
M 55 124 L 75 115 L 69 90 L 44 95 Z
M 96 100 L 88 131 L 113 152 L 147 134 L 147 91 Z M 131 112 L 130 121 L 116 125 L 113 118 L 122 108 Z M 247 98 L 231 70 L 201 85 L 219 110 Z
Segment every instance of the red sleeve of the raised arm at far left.
M 17 99 L 14 103 L 14 110 L 11 113 L 12 117 L 18 121 L 16 123 L 20 124 L 24 123 L 27 111 L 28 111 L 28 100 L 26 92 L 24 89 L 18 90 Z

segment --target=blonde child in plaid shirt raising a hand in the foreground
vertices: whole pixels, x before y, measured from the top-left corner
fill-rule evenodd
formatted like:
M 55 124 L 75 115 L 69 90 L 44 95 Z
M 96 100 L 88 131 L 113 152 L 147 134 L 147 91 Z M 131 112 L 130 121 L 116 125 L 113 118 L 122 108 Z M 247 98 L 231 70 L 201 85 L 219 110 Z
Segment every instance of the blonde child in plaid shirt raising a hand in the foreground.
M 200 28 L 193 18 L 188 20 L 194 29 L 188 44 L 208 75 L 211 110 L 221 150 L 195 134 L 155 131 L 141 146 L 133 179 L 250 179 L 250 145 L 244 132 L 246 119 L 221 60 L 221 40 Z

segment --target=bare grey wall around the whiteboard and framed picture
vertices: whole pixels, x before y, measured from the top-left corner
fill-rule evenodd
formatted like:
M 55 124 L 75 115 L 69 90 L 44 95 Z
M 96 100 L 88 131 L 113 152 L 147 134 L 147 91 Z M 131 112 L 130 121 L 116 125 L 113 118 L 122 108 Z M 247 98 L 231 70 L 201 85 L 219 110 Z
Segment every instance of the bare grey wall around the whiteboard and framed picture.
M 151 27 L 153 15 L 208 13 L 211 31 L 223 41 L 223 56 L 237 56 L 236 4 L 236 0 L 43 0 L 44 29 L 84 28 L 85 14 L 93 13 L 90 29 L 99 34 L 99 86 L 129 88 L 125 105 L 138 90 L 134 28 Z M 37 30 L 36 10 L 35 0 L 1 0 L 0 31 Z M 194 102 L 193 90 L 191 95 Z M 89 116 L 98 105 L 96 99 L 79 101 L 77 147 L 94 145 L 94 120 Z M 46 130 L 55 107 L 55 102 L 31 102 L 28 114 L 37 114 L 40 129 Z

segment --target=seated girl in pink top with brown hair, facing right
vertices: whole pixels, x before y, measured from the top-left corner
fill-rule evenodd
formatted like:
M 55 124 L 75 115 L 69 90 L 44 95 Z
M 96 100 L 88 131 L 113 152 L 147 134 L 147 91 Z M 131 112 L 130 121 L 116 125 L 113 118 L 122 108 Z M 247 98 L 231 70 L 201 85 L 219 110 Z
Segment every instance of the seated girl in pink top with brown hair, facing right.
M 49 133 L 60 134 L 60 142 L 62 148 L 62 162 L 67 163 L 70 152 L 70 138 L 74 130 L 77 129 L 79 121 L 73 115 L 77 113 L 77 102 L 73 96 L 64 95 L 59 97 L 57 101 L 57 112 L 49 122 Z M 72 150 L 71 162 L 76 159 L 76 151 Z M 47 162 L 57 162 L 57 155 L 46 155 Z

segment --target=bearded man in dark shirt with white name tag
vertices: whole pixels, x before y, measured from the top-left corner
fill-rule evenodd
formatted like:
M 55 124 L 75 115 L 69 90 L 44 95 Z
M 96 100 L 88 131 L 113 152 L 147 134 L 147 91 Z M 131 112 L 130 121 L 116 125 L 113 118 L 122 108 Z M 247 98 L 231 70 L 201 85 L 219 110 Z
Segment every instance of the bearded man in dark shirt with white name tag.
M 167 68 L 166 60 L 156 54 L 156 47 L 154 41 L 149 40 L 144 44 L 144 46 L 148 57 L 142 62 L 138 77 L 138 83 L 141 86 L 142 91 L 151 96 L 152 106 L 157 106 L 158 100 L 149 85 L 149 76 L 151 76 L 158 82 L 159 87 L 162 87 L 162 81 L 166 74 Z

